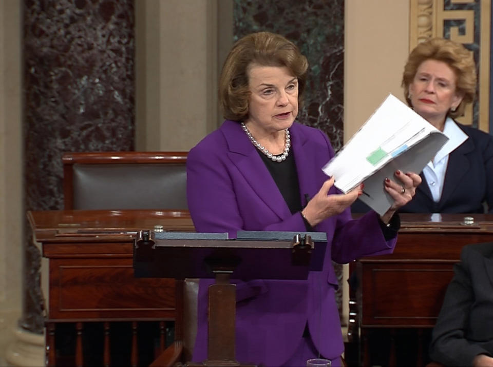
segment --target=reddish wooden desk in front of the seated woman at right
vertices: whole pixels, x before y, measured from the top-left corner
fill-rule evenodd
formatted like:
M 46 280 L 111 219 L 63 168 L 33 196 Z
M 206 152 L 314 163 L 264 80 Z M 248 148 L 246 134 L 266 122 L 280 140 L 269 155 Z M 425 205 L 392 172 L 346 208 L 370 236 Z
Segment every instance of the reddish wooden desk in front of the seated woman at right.
M 394 253 L 357 261 L 356 303 L 364 365 L 372 363 L 367 338 L 371 329 L 433 328 L 461 249 L 469 243 L 493 241 L 493 215 L 471 214 L 472 226 L 461 224 L 464 216 L 442 214 L 441 220 L 432 221 L 430 214 L 401 214 Z M 394 347 L 390 365 L 395 364 Z M 417 364 L 423 363 L 426 351 L 416 350 L 421 355 Z

